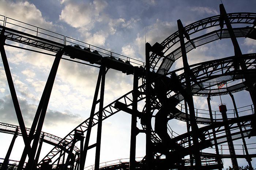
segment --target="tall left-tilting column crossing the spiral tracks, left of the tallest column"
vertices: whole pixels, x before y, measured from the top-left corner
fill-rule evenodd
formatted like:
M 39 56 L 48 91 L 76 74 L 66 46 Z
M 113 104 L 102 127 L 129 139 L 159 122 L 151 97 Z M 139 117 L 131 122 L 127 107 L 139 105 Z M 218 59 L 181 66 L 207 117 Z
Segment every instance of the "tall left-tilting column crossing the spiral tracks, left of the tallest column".
M 180 46 L 181 46 L 181 53 L 182 53 L 182 61 L 183 61 L 183 67 L 184 67 L 184 73 L 185 73 L 185 82 L 187 87 L 187 96 L 184 96 L 184 98 L 187 98 L 187 103 L 189 107 L 189 115 L 191 120 L 191 136 L 193 140 L 193 152 L 195 154 L 195 163 L 196 163 L 196 169 L 201 169 L 201 157 L 200 157 L 200 150 L 199 148 L 199 142 L 198 142 L 198 135 L 197 135 L 197 124 L 196 124 L 196 118 L 195 118 L 195 108 L 193 103 L 193 96 L 191 91 L 191 82 L 190 82 L 190 76 L 189 76 L 189 65 L 188 65 L 188 59 L 187 59 L 187 53 L 185 48 L 185 42 L 184 42 L 184 27 L 181 23 L 181 20 L 177 20 L 178 24 L 178 31 L 179 31 L 179 38 L 180 38 Z

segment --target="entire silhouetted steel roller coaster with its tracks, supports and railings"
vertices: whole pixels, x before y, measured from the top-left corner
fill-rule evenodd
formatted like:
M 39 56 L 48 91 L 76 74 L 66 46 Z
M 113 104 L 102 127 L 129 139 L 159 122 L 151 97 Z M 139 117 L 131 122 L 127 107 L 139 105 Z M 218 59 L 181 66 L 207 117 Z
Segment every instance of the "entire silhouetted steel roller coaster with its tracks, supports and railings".
M 86 168 L 88 170 L 222 169 L 223 158 L 230 158 L 233 166 L 238 166 L 237 158 L 244 158 L 252 169 L 251 161 L 256 157 L 253 149 L 255 145 L 250 147 L 246 139 L 255 138 L 256 135 L 256 54 L 242 54 L 237 38 L 256 40 L 256 13 L 226 13 L 224 6 L 220 4 L 220 15 L 196 21 L 185 27 L 181 20 L 177 20 L 178 31 L 162 43 L 155 43 L 153 46 L 146 43 L 146 63 L 5 16 L 1 17 L 3 25 L 0 25 L 0 52 L 19 126 L 1 123 L 0 131 L 14 134 L 14 137 L 22 135 L 25 149 L 18 169 L 25 167 L 25 159 L 28 156 L 26 170 L 82 170 L 88 157 L 87 151 L 92 148 L 96 148 L 95 165 Z M 233 46 L 230 48 L 234 48 L 234 56 L 188 64 L 188 52 L 222 39 L 231 39 Z M 8 44 L 7 40 L 39 50 Z M 25 127 L 23 122 L 4 46 L 49 55 L 56 53 L 30 129 Z M 173 63 L 180 58 L 183 67 L 174 70 Z M 50 92 L 61 59 L 99 68 L 90 117 L 64 138 L 42 132 Z M 109 69 L 133 75 L 133 90 L 103 106 L 105 75 Z M 139 79 L 143 80 L 141 86 Z M 237 108 L 233 94 L 240 91 L 249 93 L 252 105 Z M 222 95 L 231 97 L 234 106 L 231 114 L 225 104 L 219 106 L 221 114 L 216 114 L 216 111 L 211 109 L 212 96 Z M 204 113 L 198 112 L 200 108 L 195 108 L 193 96 L 207 98 L 208 110 Z M 139 111 L 138 103 L 141 101 L 144 101 L 145 105 Z M 99 111 L 95 111 L 96 106 L 99 106 Z M 120 111 L 132 116 L 129 160 L 101 166 L 99 158 L 102 121 Z M 141 129 L 137 127 L 138 119 Z M 186 122 L 187 133 L 170 134 L 168 122 L 173 119 Z M 89 146 L 91 129 L 94 126 L 97 126 L 97 142 Z M 146 134 L 146 155 L 140 160 L 135 157 L 136 136 L 139 133 Z M 244 154 L 236 154 L 233 143 L 236 140 L 243 143 Z M 53 149 L 39 161 L 40 146 L 43 142 L 53 145 Z M 80 148 L 75 146 L 78 142 Z M 229 154 L 220 151 L 220 147 L 225 143 Z M 10 151 L 12 146 L 13 142 L 10 144 Z M 8 153 L 4 160 L 1 169 L 8 164 Z

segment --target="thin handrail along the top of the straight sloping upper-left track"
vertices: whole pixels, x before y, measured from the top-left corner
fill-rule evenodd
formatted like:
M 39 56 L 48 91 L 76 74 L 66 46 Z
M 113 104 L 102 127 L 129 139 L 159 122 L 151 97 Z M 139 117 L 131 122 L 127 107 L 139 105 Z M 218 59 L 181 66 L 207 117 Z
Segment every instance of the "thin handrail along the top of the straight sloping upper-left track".
M 12 29 L 24 32 L 24 33 L 28 33 L 28 34 L 34 35 L 36 37 L 48 39 L 48 40 L 51 40 L 51 41 L 54 41 L 54 42 L 57 42 L 60 44 L 69 45 L 69 46 L 77 45 L 77 46 L 81 46 L 83 48 L 84 47 L 90 48 L 91 50 L 94 50 L 94 51 L 97 50 L 102 56 L 109 56 L 109 57 L 111 56 L 112 58 L 114 57 L 117 60 L 122 59 L 124 61 L 129 61 L 133 66 L 143 66 L 143 67 L 145 66 L 145 63 L 140 60 L 133 59 L 133 58 L 121 55 L 121 54 L 117 54 L 112 51 L 108 51 L 103 48 L 96 47 L 91 44 L 76 40 L 74 38 L 71 38 L 71 37 L 68 37 L 65 35 L 61 35 L 59 33 L 52 32 L 47 29 L 36 27 L 31 24 L 24 23 L 22 21 L 11 19 L 11 18 L 3 16 L 3 15 L 0 15 L 0 25 L 2 25 L 4 27 L 12 28 Z

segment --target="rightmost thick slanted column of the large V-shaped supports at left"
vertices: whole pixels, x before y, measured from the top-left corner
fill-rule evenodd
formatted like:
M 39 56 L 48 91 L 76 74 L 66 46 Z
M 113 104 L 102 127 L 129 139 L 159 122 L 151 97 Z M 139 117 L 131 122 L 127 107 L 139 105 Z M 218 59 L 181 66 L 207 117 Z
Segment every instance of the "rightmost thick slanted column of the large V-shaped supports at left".
M 48 77 L 49 84 L 46 83 L 46 85 L 49 85 L 49 86 L 45 87 L 47 90 L 46 90 L 44 102 L 42 104 L 42 110 L 40 110 L 41 114 L 40 114 L 40 117 L 39 117 L 39 121 L 38 121 L 38 125 L 37 125 L 37 131 L 35 133 L 35 138 L 34 138 L 34 141 L 33 141 L 33 145 L 31 147 L 31 152 L 29 154 L 30 155 L 29 156 L 29 161 L 27 162 L 27 165 L 26 165 L 27 170 L 32 169 L 32 166 L 33 166 L 33 162 L 34 162 L 33 160 L 34 160 L 34 157 L 35 157 L 35 152 L 37 150 L 38 141 L 39 141 L 40 134 L 41 134 L 41 131 L 42 131 L 42 126 L 44 124 L 46 110 L 47 110 L 48 103 L 49 103 L 49 100 L 50 100 L 50 94 L 52 92 L 54 80 L 55 80 L 55 77 L 56 77 L 56 74 L 57 74 L 57 70 L 58 70 L 58 67 L 59 67 L 59 64 L 60 64 L 60 59 L 61 59 L 61 56 L 63 55 L 63 52 L 64 52 L 64 50 L 61 50 L 61 51 L 57 52 L 56 57 L 55 57 L 54 62 L 53 62 L 52 70 L 51 70 L 51 72 L 49 74 L 49 77 Z

